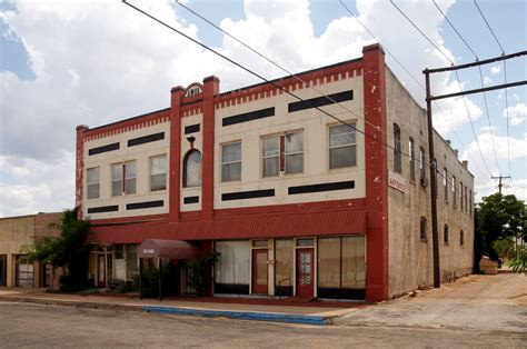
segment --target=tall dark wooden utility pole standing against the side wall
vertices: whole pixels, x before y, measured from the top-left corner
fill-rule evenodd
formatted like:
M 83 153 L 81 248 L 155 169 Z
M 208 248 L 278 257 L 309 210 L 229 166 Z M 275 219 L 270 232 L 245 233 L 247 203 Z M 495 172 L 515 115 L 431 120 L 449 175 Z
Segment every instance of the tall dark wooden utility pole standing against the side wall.
M 434 152 L 434 126 L 431 124 L 431 96 L 430 74 L 428 69 L 424 71 L 426 78 L 426 116 L 428 123 L 428 156 L 430 162 L 430 207 L 431 207 L 431 243 L 434 259 L 434 287 L 441 287 L 441 275 L 439 268 L 439 232 L 437 231 L 437 177 L 436 156 Z

